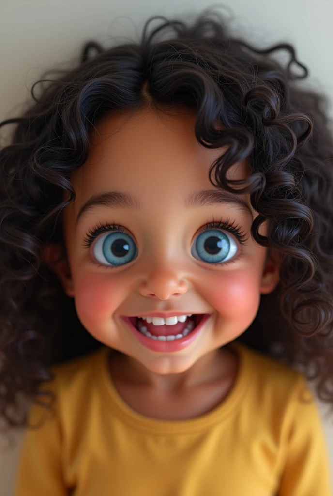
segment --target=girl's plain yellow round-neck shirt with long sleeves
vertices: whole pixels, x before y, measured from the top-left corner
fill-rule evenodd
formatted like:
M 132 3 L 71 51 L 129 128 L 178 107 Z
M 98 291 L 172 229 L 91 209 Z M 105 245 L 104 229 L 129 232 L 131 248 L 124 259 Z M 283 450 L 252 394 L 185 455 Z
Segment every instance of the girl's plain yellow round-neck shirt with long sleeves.
M 14 496 L 332 496 L 303 375 L 231 346 L 240 364 L 232 390 L 186 421 L 133 411 L 114 387 L 105 346 L 54 367 L 44 385 L 56 392 L 56 416 L 26 430 Z M 30 423 L 44 415 L 33 405 Z

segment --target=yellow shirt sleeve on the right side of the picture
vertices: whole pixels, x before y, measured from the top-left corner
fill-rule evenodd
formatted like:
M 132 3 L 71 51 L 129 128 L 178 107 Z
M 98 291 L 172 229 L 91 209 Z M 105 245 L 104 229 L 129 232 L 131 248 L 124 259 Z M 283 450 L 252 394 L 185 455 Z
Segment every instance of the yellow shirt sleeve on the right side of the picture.
M 321 416 L 303 376 L 300 376 L 293 401 L 278 496 L 332 496 L 329 453 Z

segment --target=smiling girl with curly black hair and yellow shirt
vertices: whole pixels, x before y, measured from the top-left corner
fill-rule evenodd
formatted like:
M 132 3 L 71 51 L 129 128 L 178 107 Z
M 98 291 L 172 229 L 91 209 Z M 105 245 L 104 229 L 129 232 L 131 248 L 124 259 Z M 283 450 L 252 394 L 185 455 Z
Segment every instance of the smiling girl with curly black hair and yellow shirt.
M 294 63 L 163 19 L 1 123 L 16 496 L 331 495 L 333 141 Z

